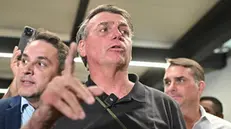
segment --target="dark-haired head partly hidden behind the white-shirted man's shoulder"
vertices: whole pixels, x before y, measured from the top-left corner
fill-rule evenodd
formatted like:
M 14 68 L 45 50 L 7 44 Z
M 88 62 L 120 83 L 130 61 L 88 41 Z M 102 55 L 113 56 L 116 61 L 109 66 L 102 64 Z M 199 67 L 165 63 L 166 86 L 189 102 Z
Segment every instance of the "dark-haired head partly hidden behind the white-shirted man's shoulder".
M 217 117 L 224 118 L 222 103 L 215 97 L 203 96 L 200 98 L 200 104 L 205 111 Z

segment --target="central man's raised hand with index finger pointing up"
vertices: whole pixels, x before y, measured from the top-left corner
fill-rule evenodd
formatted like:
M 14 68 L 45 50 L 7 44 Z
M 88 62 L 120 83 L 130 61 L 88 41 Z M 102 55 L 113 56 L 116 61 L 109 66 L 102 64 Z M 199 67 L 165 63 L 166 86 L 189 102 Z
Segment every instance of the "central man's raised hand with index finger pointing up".
M 73 59 L 76 52 L 76 43 L 72 43 L 62 75 L 53 78 L 41 96 L 42 107 L 47 108 L 39 107 L 40 115 L 51 114 L 49 119 L 54 119 L 61 114 L 73 120 L 83 119 L 85 113 L 80 103 L 93 104 L 94 97 L 102 94 L 97 86 L 87 88 L 73 75 Z

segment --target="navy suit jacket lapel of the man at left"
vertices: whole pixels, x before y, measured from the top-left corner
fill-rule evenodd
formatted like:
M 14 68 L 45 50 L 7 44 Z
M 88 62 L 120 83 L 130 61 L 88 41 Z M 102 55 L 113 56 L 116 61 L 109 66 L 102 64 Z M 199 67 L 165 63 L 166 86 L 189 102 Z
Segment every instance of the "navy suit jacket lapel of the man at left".
M 21 126 L 21 97 L 13 97 L 9 105 L 10 108 L 6 110 L 5 117 L 6 129 L 19 129 Z

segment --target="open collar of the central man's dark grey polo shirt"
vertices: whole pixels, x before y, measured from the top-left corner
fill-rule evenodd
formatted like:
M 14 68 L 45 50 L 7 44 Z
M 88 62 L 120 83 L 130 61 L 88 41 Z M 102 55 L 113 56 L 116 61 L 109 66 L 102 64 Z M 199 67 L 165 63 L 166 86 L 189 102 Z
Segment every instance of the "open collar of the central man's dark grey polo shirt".
M 121 100 L 131 100 L 134 99 L 138 102 L 145 102 L 145 87 L 143 84 L 139 82 L 139 77 L 136 74 L 129 74 L 128 78 L 130 81 L 135 83 L 134 87 L 132 88 L 131 92 L 122 98 Z M 91 79 L 90 75 L 88 76 L 88 80 L 86 82 L 87 86 L 96 85 L 94 81 Z

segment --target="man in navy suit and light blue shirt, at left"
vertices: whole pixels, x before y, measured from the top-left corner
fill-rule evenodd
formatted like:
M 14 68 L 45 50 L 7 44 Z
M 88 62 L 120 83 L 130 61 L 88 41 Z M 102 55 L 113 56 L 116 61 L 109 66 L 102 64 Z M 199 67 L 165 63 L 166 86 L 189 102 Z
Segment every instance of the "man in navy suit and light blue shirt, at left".
M 19 61 L 13 88 L 18 96 L 0 100 L 0 129 L 19 129 L 27 123 L 47 84 L 61 74 L 67 53 L 55 34 L 38 30 Z

